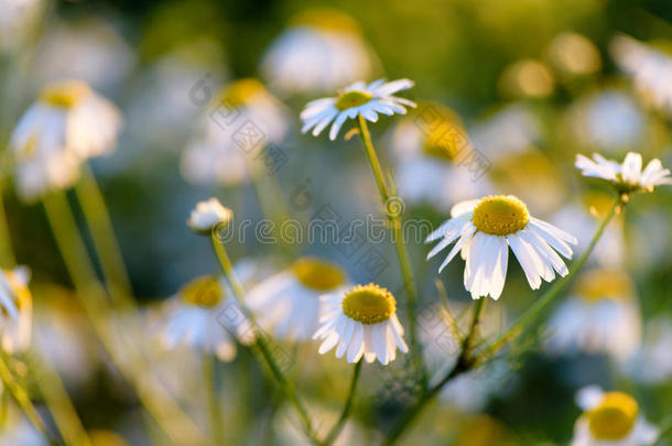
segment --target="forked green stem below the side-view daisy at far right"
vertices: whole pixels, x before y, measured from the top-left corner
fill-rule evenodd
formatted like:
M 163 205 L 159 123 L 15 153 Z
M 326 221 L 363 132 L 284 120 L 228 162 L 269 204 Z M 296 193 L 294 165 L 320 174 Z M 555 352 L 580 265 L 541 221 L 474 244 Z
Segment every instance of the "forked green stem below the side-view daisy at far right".
M 543 314 L 543 312 L 551 305 L 551 303 L 560 295 L 560 292 L 564 290 L 564 287 L 572 281 L 572 279 L 576 275 L 578 270 L 584 265 L 595 246 L 601 238 L 607 225 L 616 213 L 625 205 L 626 200 L 622 200 L 620 197 L 614 203 L 614 206 L 609 210 L 609 214 L 601 224 L 595 230 L 593 235 L 593 239 L 588 244 L 588 248 L 584 251 L 584 253 L 570 266 L 570 272 L 564 278 L 560 279 L 555 282 L 555 284 L 549 289 L 542 296 L 534 301 L 534 304 L 518 319 L 516 324 L 501 337 L 496 339 L 489 347 L 487 347 L 483 352 L 478 355 L 478 357 L 474 358 L 470 352 L 467 351 L 465 356 L 465 347 L 469 346 L 473 342 L 475 327 L 475 322 L 472 324 L 472 331 L 467 335 L 465 342 L 463 344 L 462 353 L 459 359 L 455 363 L 455 367 L 446 373 L 446 376 L 433 388 L 427 390 L 425 394 L 422 395 L 420 400 L 405 413 L 403 418 L 394 426 L 392 432 L 386 437 L 383 445 L 390 446 L 394 444 L 401 434 L 405 431 L 405 428 L 413 422 L 413 420 L 420 414 L 422 409 L 427 404 L 427 402 L 432 401 L 438 391 L 443 389 L 443 387 L 453 380 L 455 377 L 475 369 L 483 365 L 486 359 L 497 353 L 499 349 L 501 349 L 507 344 L 511 342 L 514 338 L 517 338 L 525 328 L 529 328 L 532 324 L 538 323 L 539 318 Z M 479 300 L 481 301 L 481 300 Z M 477 312 L 480 309 L 477 308 Z M 475 319 L 476 320 L 476 319 Z M 460 360 L 462 359 L 462 360 Z

